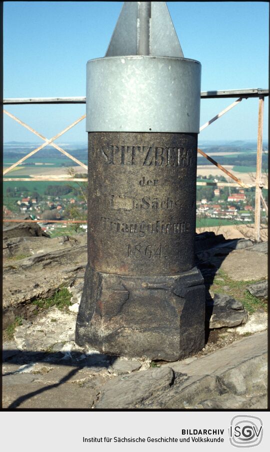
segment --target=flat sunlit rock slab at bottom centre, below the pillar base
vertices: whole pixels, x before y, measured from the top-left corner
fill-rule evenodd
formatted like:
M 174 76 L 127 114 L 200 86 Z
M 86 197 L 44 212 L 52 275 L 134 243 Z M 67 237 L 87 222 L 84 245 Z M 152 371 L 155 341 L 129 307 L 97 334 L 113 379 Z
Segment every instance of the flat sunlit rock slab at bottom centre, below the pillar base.
M 95 408 L 138 408 L 153 394 L 161 394 L 168 389 L 172 381 L 173 372 L 170 368 L 153 368 L 126 377 L 116 377 L 103 386 Z

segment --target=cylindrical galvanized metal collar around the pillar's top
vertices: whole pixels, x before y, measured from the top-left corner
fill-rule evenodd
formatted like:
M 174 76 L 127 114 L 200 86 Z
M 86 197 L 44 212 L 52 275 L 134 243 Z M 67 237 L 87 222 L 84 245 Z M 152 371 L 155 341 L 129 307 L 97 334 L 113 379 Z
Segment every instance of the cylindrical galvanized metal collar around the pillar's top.
M 199 132 L 200 63 L 166 56 L 88 61 L 86 131 Z

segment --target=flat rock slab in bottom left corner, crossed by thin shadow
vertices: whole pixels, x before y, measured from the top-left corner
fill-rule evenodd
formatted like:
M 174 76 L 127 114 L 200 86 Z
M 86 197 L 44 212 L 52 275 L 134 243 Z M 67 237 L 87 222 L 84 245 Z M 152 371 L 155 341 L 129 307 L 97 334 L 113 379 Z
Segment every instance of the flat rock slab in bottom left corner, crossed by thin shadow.
M 100 388 L 111 378 L 109 363 L 102 355 L 100 360 L 94 354 L 70 360 L 63 355 L 56 359 L 56 355 L 20 352 L 17 359 L 3 363 L 3 408 L 91 409 Z

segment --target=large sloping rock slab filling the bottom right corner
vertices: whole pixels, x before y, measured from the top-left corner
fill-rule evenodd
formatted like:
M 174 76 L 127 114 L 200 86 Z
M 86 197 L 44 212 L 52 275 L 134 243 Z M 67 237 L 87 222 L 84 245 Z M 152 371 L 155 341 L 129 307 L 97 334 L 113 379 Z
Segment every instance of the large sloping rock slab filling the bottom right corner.
M 148 399 L 144 408 L 153 405 L 169 409 L 267 407 L 265 333 L 235 341 L 190 363 L 175 362 L 164 367 L 173 369 L 175 382 L 161 397 L 154 401 Z

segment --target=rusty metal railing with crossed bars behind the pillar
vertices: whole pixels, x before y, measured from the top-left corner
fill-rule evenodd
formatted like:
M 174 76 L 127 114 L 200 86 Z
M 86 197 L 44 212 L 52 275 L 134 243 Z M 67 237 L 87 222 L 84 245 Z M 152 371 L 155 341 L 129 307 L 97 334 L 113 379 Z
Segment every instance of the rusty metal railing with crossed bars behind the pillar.
M 251 188 L 255 187 L 255 217 L 254 217 L 254 239 L 256 241 L 259 241 L 260 239 L 260 204 L 262 203 L 263 208 L 268 213 L 268 207 L 267 204 L 262 196 L 262 188 L 268 188 L 264 185 L 261 179 L 261 165 L 262 165 L 262 126 L 263 126 L 263 105 L 264 105 L 264 97 L 269 95 L 268 89 L 260 89 L 260 88 L 251 88 L 251 89 L 233 89 L 233 90 L 221 90 L 221 91 L 203 91 L 200 93 L 201 99 L 213 99 L 213 98 L 224 98 L 224 97 L 231 97 L 231 98 L 237 98 L 234 102 L 229 104 L 226 108 L 224 108 L 222 111 L 220 111 L 217 115 L 215 115 L 213 118 L 211 118 L 209 121 L 207 121 L 205 124 L 203 124 L 200 127 L 200 131 L 204 130 L 206 127 L 208 127 L 210 124 L 212 124 L 214 121 L 219 119 L 221 116 L 223 116 L 225 113 L 227 113 L 229 110 L 234 108 L 236 105 L 238 105 L 242 99 L 248 99 L 249 97 L 257 97 L 258 98 L 258 131 L 257 131 L 257 155 L 256 155 L 256 178 L 255 178 L 255 184 L 246 184 L 243 181 L 241 181 L 238 177 L 236 177 L 234 174 L 232 174 L 230 171 L 225 169 L 220 163 L 215 161 L 213 158 L 211 158 L 209 155 L 207 155 L 205 152 L 203 152 L 201 149 L 198 148 L 198 153 L 202 155 L 204 158 L 206 158 L 209 162 L 211 162 L 213 165 L 215 165 L 217 168 L 219 168 L 221 171 L 223 171 L 229 178 L 231 178 L 234 182 L 196 182 L 197 185 L 215 185 L 215 186 L 231 186 L 231 187 L 237 187 L 241 186 L 243 188 Z M 62 103 L 86 103 L 85 97 L 32 97 L 32 98 L 18 98 L 18 99 L 3 99 L 4 105 L 19 105 L 19 104 L 62 104 Z M 3 170 L 3 175 L 7 174 L 9 171 L 14 169 L 16 166 L 18 166 L 20 163 L 25 161 L 27 158 L 31 157 L 33 154 L 38 152 L 40 149 L 43 149 L 45 146 L 51 144 L 55 149 L 57 149 L 59 152 L 64 154 L 66 157 L 80 165 L 82 168 L 87 170 L 87 165 L 82 163 L 80 160 L 73 157 L 71 154 L 66 152 L 64 149 L 62 149 L 60 146 L 54 143 L 54 141 L 59 138 L 61 135 L 63 135 L 65 132 L 70 130 L 72 127 L 74 127 L 76 124 L 78 124 L 80 121 L 82 121 L 85 118 L 85 114 L 82 115 L 80 118 L 78 118 L 76 121 L 72 122 L 68 127 L 63 129 L 61 132 L 54 135 L 52 138 L 46 138 L 40 133 L 38 133 L 36 130 L 34 130 L 29 125 L 25 124 L 23 121 L 18 119 L 16 116 L 11 114 L 10 112 L 6 111 L 5 109 L 3 112 L 12 118 L 14 121 L 25 127 L 27 130 L 34 133 L 36 136 L 41 138 L 44 143 L 35 148 L 33 151 L 29 152 L 27 155 L 19 159 L 17 162 L 13 163 L 11 166 Z M 31 177 L 29 178 L 8 178 L 4 177 L 3 181 L 73 181 L 73 182 L 85 182 L 85 178 L 67 178 L 67 177 L 49 177 L 49 176 L 39 176 L 39 177 Z M 22 220 L 3 220 L 8 222 L 21 222 Z M 26 220 L 23 220 L 26 221 Z M 27 220 L 28 222 L 53 222 L 53 223 L 87 223 L 83 220 Z

